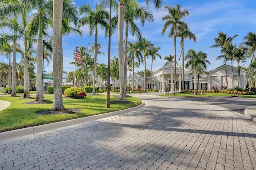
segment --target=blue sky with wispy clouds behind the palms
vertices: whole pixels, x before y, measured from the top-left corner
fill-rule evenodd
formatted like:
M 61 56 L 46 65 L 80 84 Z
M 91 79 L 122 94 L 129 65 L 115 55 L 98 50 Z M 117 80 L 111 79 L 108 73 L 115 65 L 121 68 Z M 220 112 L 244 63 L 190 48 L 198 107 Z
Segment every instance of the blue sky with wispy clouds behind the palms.
M 90 4 L 90 6 L 94 7 L 95 4 L 99 4 L 100 0 L 90 0 L 90 1 L 82 1 L 82 0 L 74 0 L 77 6 L 81 6 L 82 4 Z M 144 0 L 138 0 L 140 6 L 146 6 Z M 151 0 L 152 2 L 152 0 Z M 145 23 L 144 27 L 140 26 L 143 37 L 146 37 L 151 43 L 154 43 L 156 47 L 160 47 L 159 53 L 162 59 L 157 58 L 156 61 L 153 62 L 153 71 L 158 70 L 160 67 L 166 63 L 164 57 L 166 55 L 174 54 L 174 45 L 173 38 L 168 38 L 168 31 L 170 28 L 166 30 L 166 33 L 162 36 L 161 31 L 164 25 L 164 21 L 162 21 L 162 17 L 167 14 L 166 10 L 164 10 L 164 6 L 176 6 L 176 4 L 182 5 L 182 9 L 187 9 L 189 11 L 189 16 L 184 18 L 190 27 L 190 31 L 192 31 L 197 36 L 197 42 L 185 40 L 184 46 L 184 54 L 188 49 L 195 49 L 196 51 L 203 51 L 208 54 L 208 60 L 210 61 L 210 65 L 207 66 L 207 70 L 213 70 L 218 66 L 223 64 L 223 61 L 216 61 L 216 57 L 218 55 L 222 55 L 220 53 L 220 48 L 209 48 L 211 45 L 214 45 L 214 38 L 218 37 L 218 33 L 220 31 L 227 33 L 228 36 L 233 36 L 238 34 L 233 41 L 233 43 L 237 43 L 238 45 L 242 43 L 244 40 L 244 36 L 247 35 L 248 32 L 255 32 L 256 30 L 256 3 L 254 0 L 163 0 L 163 6 L 158 11 L 154 9 L 154 4 L 150 4 L 149 9 L 152 11 L 154 15 L 154 23 Z M 137 25 L 140 23 L 137 21 Z M 71 65 L 70 62 L 73 61 L 74 58 L 74 48 L 75 42 L 77 46 L 85 46 L 88 47 L 88 43 L 94 42 L 94 35 L 89 37 L 88 26 L 85 25 L 81 28 L 83 31 L 82 37 L 70 34 L 68 36 L 64 36 L 62 38 L 63 44 L 63 70 L 70 72 L 74 70 L 74 65 Z M 52 31 L 51 29 L 49 31 Z M 2 33 L 3 31 L 0 31 Z M 132 37 L 132 35 L 128 35 L 128 41 L 135 42 L 136 37 Z M 103 47 L 101 49 L 105 55 L 98 55 L 98 63 L 107 63 L 107 55 L 108 55 L 108 39 L 104 37 L 104 30 L 99 29 L 98 33 L 98 43 L 100 43 Z M 22 42 L 20 42 L 22 45 Z M 36 47 L 36 45 L 35 45 Z M 178 61 L 178 57 L 180 56 L 180 39 L 177 38 L 177 62 L 181 64 L 181 61 Z M 118 33 L 116 32 L 111 37 L 111 58 L 118 55 Z M 17 62 L 20 62 L 20 57 L 17 56 Z M 5 57 L 0 56 L 0 62 L 8 62 Z M 186 63 L 186 61 L 185 61 Z M 228 63 L 230 64 L 230 63 Z M 248 66 L 249 60 L 246 62 L 245 66 Z M 234 62 L 234 66 L 236 66 L 236 62 Z M 46 66 L 46 62 L 44 63 L 44 70 L 46 73 L 52 72 L 52 61 L 49 66 Z M 151 59 L 146 60 L 146 68 L 151 68 Z M 140 68 L 138 70 L 144 70 L 144 65 L 141 63 Z

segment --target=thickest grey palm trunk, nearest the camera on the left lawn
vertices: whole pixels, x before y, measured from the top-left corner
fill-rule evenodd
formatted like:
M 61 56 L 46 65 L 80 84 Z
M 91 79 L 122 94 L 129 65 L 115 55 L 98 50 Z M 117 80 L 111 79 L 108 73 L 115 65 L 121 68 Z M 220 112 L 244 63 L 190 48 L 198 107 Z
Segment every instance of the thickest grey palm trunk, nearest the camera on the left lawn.
M 53 1 L 53 84 L 54 96 L 52 109 L 63 110 L 62 100 L 62 72 L 63 72 L 63 52 L 62 52 L 62 8 L 63 0 Z

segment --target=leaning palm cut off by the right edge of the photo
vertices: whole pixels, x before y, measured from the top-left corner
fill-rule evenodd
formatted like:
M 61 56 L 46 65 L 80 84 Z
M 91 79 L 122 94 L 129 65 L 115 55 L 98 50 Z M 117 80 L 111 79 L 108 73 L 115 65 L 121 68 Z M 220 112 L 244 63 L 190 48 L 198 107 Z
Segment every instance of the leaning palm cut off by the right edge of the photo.
M 254 61 L 254 53 L 256 50 L 256 34 L 249 32 L 246 36 L 244 36 L 244 40 L 247 40 L 247 41 L 244 41 L 242 44 L 246 45 L 246 47 L 248 47 L 248 50 L 252 51 L 251 63 L 249 65 L 248 76 L 246 78 L 246 85 L 244 86 L 244 89 L 245 89 L 248 84 L 248 79 L 249 79 L 250 72 L 251 72 L 252 62 Z

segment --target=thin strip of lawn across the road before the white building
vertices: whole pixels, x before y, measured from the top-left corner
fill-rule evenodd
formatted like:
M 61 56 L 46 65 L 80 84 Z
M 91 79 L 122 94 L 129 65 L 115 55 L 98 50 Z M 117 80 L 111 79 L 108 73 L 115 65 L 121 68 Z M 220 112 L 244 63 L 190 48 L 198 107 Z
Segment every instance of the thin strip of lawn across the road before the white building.
M 194 95 L 194 93 L 191 92 L 183 92 L 183 93 L 168 93 L 168 94 L 162 94 L 160 96 L 176 96 L 176 97 L 232 97 L 233 94 L 229 93 L 196 93 L 197 95 Z M 256 98 L 256 95 L 244 95 L 244 94 L 235 94 L 235 97 L 240 98 Z

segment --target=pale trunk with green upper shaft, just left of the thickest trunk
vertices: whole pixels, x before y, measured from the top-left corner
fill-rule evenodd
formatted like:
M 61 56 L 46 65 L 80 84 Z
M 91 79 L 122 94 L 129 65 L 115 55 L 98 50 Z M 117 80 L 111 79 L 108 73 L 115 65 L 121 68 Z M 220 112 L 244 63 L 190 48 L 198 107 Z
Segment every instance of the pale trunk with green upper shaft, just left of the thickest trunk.
M 36 56 L 36 101 L 44 100 L 43 93 L 43 54 L 44 54 L 44 44 L 43 44 L 43 16 L 39 16 L 39 25 L 38 25 L 38 40 L 37 40 L 37 56 Z M 24 73 L 25 74 L 25 73 Z M 24 80 L 24 83 L 26 80 Z M 24 90 L 25 92 L 25 90 Z

